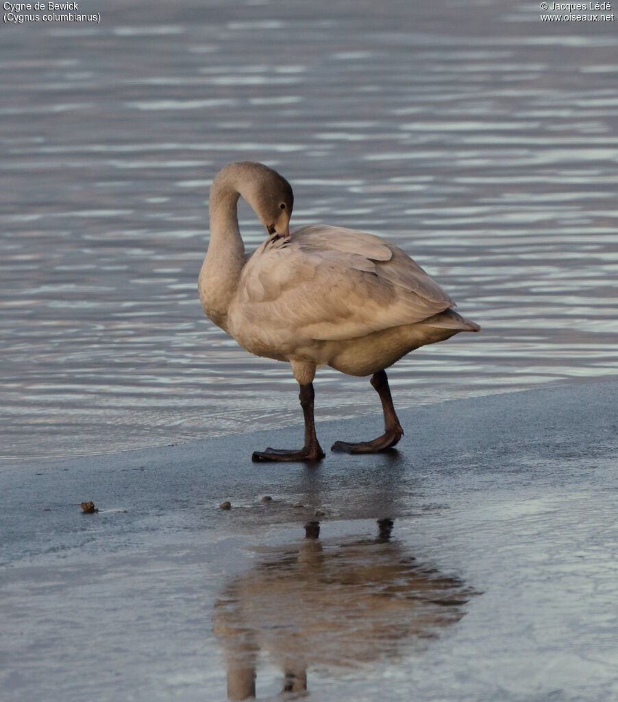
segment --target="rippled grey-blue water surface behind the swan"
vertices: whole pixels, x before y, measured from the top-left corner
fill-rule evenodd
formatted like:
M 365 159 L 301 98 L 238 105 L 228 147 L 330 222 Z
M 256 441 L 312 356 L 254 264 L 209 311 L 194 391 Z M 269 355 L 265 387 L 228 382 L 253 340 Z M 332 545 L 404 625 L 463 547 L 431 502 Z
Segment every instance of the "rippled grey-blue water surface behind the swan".
M 82 11 L 94 11 L 84 4 Z M 397 406 L 618 373 L 616 27 L 488 0 L 112 1 L 4 26 L 4 456 L 301 420 L 284 364 L 203 316 L 218 168 L 293 221 L 386 235 L 483 326 L 390 371 Z M 248 248 L 263 239 L 241 210 Z M 377 411 L 324 369 L 317 418 Z

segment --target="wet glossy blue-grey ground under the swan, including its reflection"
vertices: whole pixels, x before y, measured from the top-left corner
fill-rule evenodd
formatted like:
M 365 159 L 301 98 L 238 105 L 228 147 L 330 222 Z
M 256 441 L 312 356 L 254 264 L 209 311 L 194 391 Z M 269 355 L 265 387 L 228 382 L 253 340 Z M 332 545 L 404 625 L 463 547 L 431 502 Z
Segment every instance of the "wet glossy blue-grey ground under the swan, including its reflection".
M 251 463 L 300 428 L 6 463 L 4 698 L 223 700 L 254 670 L 260 699 L 615 698 L 617 391 L 424 406 L 397 451 L 316 466 Z

